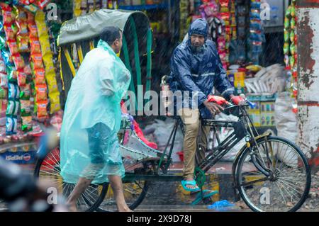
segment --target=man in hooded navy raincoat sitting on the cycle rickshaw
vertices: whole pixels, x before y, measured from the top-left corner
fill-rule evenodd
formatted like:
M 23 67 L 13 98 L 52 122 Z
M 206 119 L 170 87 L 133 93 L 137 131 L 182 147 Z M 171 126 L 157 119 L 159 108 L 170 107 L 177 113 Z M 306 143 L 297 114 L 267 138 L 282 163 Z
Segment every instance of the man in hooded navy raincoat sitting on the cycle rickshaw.
M 181 98 L 175 99 L 178 115 L 184 123 L 184 180 L 181 181 L 186 191 L 198 192 L 194 180 L 196 139 L 200 135 L 198 153 L 200 162 L 205 157 L 209 128 L 201 126 L 200 118 L 212 118 L 223 111 L 217 103 L 209 102 L 208 95 L 213 94 L 213 88 L 226 99 L 240 104 L 243 99 L 234 96 L 225 69 L 218 56 L 215 44 L 207 40 L 208 24 L 203 19 L 197 19 L 189 28 L 188 38 L 178 45 L 171 59 L 171 74 L 168 82 L 170 89 L 176 93 L 181 91 Z M 175 96 L 175 94 L 174 94 Z M 178 95 L 177 95 L 178 96 Z

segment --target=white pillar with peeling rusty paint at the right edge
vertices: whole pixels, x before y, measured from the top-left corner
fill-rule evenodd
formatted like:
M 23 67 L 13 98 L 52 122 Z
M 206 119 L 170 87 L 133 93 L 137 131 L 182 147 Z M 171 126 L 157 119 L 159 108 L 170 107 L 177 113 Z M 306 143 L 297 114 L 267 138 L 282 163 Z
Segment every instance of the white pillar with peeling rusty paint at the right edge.
M 298 145 L 319 168 L 319 1 L 297 0 Z

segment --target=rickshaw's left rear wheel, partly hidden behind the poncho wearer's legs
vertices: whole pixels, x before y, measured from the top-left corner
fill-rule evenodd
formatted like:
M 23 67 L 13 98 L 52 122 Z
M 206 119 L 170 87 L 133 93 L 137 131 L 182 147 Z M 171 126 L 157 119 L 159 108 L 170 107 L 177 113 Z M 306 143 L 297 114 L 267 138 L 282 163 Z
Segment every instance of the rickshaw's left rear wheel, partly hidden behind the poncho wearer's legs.
M 34 176 L 40 182 L 50 184 L 66 200 L 69 194 L 72 193 L 75 183 L 63 181 L 60 172 L 60 150 L 56 148 L 48 153 L 45 159 L 38 159 L 35 164 Z M 77 200 L 77 210 L 81 212 L 96 210 L 106 195 L 107 188 L 108 183 L 91 183 Z

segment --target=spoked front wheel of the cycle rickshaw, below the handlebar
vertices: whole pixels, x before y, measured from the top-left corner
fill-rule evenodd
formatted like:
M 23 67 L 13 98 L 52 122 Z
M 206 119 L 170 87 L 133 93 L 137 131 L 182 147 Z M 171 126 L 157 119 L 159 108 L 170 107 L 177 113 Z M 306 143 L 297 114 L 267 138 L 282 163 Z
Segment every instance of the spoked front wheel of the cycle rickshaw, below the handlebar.
M 258 148 L 257 148 L 258 147 Z M 262 174 L 252 162 L 246 148 L 237 163 L 235 178 L 240 196 L 254 211 L 296 211 L 303 205 L 310 190 L 310 167 L 301 150 L 281 137 L 265 137 L 252 145 Z

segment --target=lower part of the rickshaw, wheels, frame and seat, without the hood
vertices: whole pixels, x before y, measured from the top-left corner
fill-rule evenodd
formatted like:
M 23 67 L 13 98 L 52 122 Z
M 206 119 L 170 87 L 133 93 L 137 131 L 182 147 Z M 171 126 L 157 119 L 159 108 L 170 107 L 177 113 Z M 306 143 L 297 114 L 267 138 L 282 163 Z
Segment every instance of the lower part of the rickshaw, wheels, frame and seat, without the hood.
M 246 108 L 228 106 L 224 113 L 237 115 L 237 121 L 206 119 L 204 126 L 213 131 L 218 145 L 206 152 L 206 157 L 197 163 L 194 172 L 200 188 L 206 182 L 209 169 L 227 154 L 238 142 L 245 139 L 233 162 L 233 187 L 246 205 L 253 211 L 296 211 L 308 197 L 310 190 L 310 167 L 301 149 L 293 142 L 282 137 L 272 136 L 269 132 L 259 135 L 254 128 Z M 125 165 L 123 186 L 125 200 L 130 209 L 135 209 L 150 188 L 151 181 L 181 181 L 182 177 L 170 174 L 172 150 L 179 126 L 183 124 L 177 118 L 164 151 L 152 149 L 145 145 L 131 128 L 130 120 L 122 121 L 120 149 Z M 233 132 L 220 141 L 218 128 L 233 128 Z M 171 142 L 172 141 L 172 142 Z M 169 152 L 169 144 L 172 144 Z M 197 147 L 203 148 L 203 147 Z M 74 184 L 63 182 L 60 176 L 59 150 L 38 150 L 42 155 L 35 166 L 36 177 L 50 178 L 65 196 L 72 191 Z M 78 208 L 83 211 L 114 211 L 115 200 L 112 198 L 111 186 L 108 183 L 91 184 L 78 200 Z M 207 200 L 203 199 L 204 203 Z M 209 201 L 209 200 L 208 200 Z

